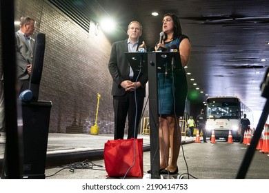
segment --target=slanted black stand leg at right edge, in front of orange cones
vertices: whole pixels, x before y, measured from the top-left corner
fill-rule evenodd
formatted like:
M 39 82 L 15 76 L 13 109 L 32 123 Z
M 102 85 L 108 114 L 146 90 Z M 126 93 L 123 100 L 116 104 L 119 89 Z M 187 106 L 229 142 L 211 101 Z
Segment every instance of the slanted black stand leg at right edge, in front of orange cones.
M 241 163 L 241 167 L 239 169 L 239 172 L 237 174 L 236 179 L 244 179 L 246 176 L 246 173 L 248 172 L 248 167 L 250 166 L 250 163 L 252 161 L 252 157 L 255 153 L 258 141 L 261 137 L 261 132 L 263 131 L 263 127 L 266 123 L 266 120 L 268 119 L 269 114 L 269 68 L 266 71 L 266 75 L 263 79 L 263 82 L 261 83 L 261 96 L 266 98 L 266 104 L 263 107 L 263 111 L 261 113 L 259 123 L 257 125 L 257 128 L 254 132 L 254 135 L 252 137 L 252 140 L 250 142 L 250 146 L 248 147 L 248 150 L 243 158 L 243 161 Z

